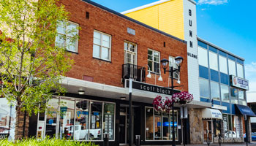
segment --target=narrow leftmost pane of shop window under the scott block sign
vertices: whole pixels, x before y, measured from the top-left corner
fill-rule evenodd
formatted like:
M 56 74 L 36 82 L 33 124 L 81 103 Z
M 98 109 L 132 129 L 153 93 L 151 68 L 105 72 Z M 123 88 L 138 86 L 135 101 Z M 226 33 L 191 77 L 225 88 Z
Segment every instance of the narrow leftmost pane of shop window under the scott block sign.
M 154 140 L 154 115 L 153 108 L 145 108 L 146 112 L 146 140 Z

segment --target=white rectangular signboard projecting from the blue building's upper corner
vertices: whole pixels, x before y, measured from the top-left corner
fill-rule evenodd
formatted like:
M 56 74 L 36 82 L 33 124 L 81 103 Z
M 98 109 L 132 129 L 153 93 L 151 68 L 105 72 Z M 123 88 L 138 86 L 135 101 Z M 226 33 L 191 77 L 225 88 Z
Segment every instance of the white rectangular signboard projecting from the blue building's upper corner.
M 249 81 L 244 80 L 240 77 L 236 77 L 234 75 L 230 75 L 230 84 L 233 87 L 236 87 L 236 88 L 241 88 L 241 89 L 244 89 L 246 91 L 249 90 Z

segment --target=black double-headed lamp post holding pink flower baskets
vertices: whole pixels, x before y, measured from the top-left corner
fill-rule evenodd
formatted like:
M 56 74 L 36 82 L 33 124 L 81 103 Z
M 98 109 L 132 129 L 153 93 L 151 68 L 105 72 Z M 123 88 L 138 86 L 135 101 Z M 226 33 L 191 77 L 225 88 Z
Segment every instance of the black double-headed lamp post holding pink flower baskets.
M 182 64 L 183 58 L 181 56 L 178 56 L 175 58 L 175 63 L 178 66 L 178 69 L 174 69 L 173 66 L 170 67 L 169 70 L 167 70 L 167 67 L 169 66 L 169 61 L 167 59 L 162 59 L 161 61 L 161 66 L 164 69 L 164 73 L 165 72 L 170 72 L 171 74 L 171 86 L 170 88 L 171 90 L 171 96 L 172 96 L 172 101 L 173 101 L 173 89 L 175 88 L 175 86 L 173 86 L 173 72 L 180 72 L 181 69 L 181 64 Z M 172 117 L 173 117 L 173 146 L 175 146 L 175 130 L 174 130 L 174 102 L 172 102 Z

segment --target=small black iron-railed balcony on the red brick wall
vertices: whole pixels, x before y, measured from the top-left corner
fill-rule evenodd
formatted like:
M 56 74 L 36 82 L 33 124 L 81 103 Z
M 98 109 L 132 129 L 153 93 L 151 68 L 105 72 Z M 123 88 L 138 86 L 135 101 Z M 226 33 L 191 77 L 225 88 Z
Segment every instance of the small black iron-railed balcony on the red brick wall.
M 123 81 L 132 78 L 139 82 L 146 82 L 146 68 L 134 64 L 123 64 Z

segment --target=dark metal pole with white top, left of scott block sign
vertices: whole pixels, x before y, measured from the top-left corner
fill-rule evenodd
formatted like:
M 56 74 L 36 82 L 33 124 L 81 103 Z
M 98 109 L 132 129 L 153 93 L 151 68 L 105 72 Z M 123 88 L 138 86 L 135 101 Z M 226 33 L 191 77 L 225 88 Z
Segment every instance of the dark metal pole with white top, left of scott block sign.
M 132 146 L 132 79 L 129 79 L 129 146 Z

